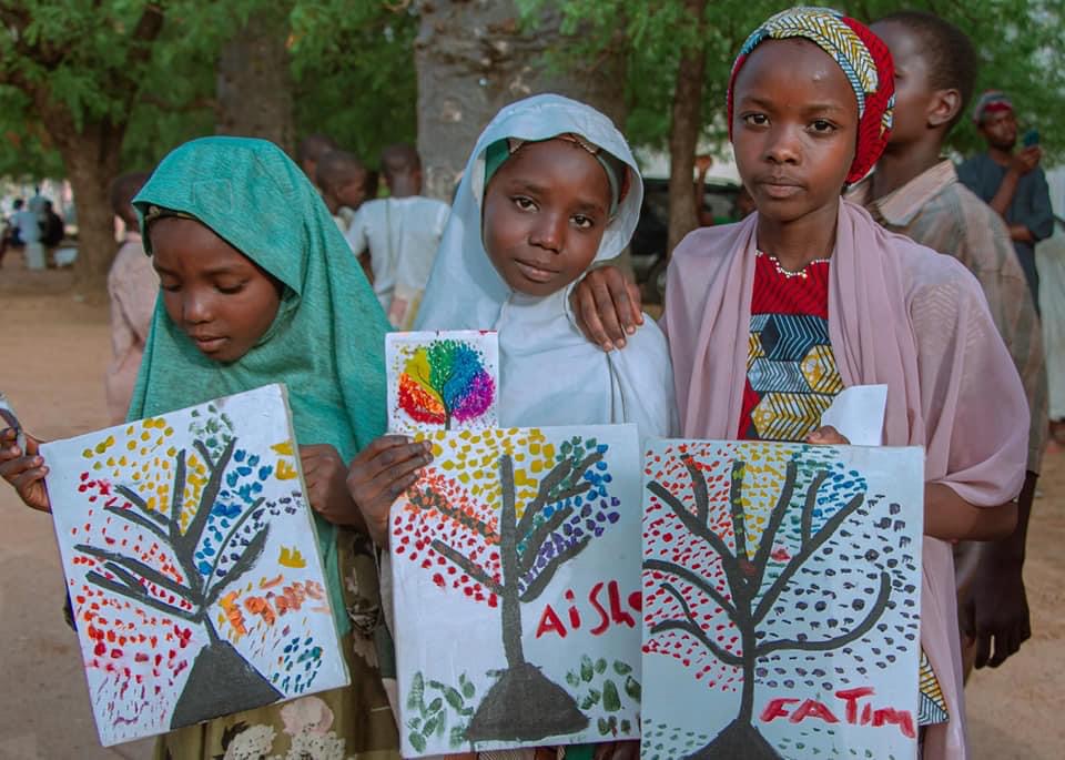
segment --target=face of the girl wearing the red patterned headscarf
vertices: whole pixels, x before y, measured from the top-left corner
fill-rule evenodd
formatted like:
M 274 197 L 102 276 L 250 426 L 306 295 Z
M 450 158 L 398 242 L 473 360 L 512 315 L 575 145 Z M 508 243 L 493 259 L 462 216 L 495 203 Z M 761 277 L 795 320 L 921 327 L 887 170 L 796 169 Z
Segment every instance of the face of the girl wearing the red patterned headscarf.
M 805 40 L 769 40 L 733 92 L 736 163 L 761 217 L 834 207 L 858 144 L 858 99 L 843 70 Z

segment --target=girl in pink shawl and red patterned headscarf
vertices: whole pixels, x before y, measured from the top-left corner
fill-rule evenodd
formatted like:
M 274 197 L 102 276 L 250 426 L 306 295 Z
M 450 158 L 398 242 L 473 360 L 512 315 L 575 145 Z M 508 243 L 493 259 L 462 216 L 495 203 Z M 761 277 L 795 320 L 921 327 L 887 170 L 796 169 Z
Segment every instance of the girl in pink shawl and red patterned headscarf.
M 888 385 L 884 443 L 926 454 L 924 757 L 965 758 L 950 543 L 1013 529 L 1027 406 L 976 280 L 840 197 L 883 151 L 893 79 L 884 44 L 826 9 L 783 11 L 748 39 L 729 130 L 758 212 L 681 242 L 662 326 L 684 437 L 846 443 L 821 413 L 844 387 Z M 612 306 L 626 295 L 601 270 L 576 293 L 598 343 L 625 343 L 604 324 L 635 327 Z

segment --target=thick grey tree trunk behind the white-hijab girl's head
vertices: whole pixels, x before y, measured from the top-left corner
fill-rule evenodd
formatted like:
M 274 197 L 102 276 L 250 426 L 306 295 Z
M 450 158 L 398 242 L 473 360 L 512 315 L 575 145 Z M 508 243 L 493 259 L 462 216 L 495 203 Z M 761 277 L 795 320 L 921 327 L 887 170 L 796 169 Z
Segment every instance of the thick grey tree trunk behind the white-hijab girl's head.
M 418 11 L 418 151 L 427 195 L 450 201 L 480 131 L 521 98 L 557 92 L 623 126 L 623 45 L 587 65 L 549 71 L 549 52 L 565 47 L 557 12 L 521 33 L 513 0 L 420 0 Z

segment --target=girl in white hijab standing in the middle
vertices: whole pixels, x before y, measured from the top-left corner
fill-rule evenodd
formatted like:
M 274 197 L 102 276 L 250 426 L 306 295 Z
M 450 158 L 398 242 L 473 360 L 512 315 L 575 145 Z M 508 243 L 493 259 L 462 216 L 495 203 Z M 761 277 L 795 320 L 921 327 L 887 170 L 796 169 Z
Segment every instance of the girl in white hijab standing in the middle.
M 499 332 L 504 426 L 636 423 L 641 437 L 673 429 L 672 371 L 658 328 L 604 354 L 569 310 L 574 282 L 628 245 L 642 197 L 625 138 L 584 103 L 527 98 L 481 133 L 417 327 Z

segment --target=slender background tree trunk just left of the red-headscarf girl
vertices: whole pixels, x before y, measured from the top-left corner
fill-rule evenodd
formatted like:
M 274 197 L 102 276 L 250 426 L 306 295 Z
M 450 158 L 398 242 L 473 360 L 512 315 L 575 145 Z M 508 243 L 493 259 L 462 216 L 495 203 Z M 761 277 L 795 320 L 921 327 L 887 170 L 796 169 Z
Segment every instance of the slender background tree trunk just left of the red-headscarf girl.
M 707 0 L 686 0 L 684 8 L 689 18 L 698 19 L 698 38 L 701 40 Z M 684 235 L 699 226 L 696 210 L 702 204 L 702 189 L 694 192 L 692 174 L 701 126 L 706 68 L 706 48 L 701 43 L 681 53 L 669 126 L 669 254 Z

